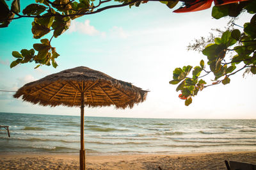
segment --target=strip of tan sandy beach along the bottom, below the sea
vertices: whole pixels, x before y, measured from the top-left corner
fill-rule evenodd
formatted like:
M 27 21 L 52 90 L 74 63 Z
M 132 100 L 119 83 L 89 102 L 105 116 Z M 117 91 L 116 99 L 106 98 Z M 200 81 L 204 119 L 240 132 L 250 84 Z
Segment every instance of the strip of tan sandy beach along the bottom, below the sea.
M 256 164 L 256 151 L 175 155 L 90 155 L 86 169 L 226 169 L 224 160 Z M 77 154 L 0 154 L 0 169 L 79 169 Z

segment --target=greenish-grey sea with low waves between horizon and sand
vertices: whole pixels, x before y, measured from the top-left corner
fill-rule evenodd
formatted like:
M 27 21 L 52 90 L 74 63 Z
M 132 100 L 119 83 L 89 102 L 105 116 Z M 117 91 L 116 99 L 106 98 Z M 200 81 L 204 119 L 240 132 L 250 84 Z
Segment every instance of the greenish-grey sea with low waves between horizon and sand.
M 1 113 L 0 153 L 78 153 L 80 116 Z M 85 117 L 86 154 L 255 151 L 256 120 Z

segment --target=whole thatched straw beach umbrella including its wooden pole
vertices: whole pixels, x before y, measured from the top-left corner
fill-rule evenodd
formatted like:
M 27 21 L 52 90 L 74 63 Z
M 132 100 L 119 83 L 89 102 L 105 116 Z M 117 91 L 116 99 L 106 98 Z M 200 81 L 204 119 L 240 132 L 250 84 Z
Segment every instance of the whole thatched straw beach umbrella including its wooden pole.
M 87 107 L 115 105 L 116 108 L 132 108 L 143 102 L 147 92 L 129 82 L 113 79 L 105 73 L 85 66 L 53 73 L 38 81 L 29 82 L 13 97 L 32 104 L 66 105 L 81 107 L 80 169 L 85 169 L 84 105 Z

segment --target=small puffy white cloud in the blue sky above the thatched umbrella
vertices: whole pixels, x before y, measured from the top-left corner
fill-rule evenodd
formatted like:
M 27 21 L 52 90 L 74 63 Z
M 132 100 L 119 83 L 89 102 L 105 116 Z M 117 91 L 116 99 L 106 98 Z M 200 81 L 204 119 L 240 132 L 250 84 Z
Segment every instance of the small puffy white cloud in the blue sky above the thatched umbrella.
M 77 22 L 76 20 L 72 20 L 71 26 L 68 29 L 69 33 L 79 32 L 85 35 L 95 36 L 101 35 L 106 36 L 106 33 L 100 32 L 95 29 L 94 26 L 90 26 L 90 20 L 85 20 L 84 22 Z

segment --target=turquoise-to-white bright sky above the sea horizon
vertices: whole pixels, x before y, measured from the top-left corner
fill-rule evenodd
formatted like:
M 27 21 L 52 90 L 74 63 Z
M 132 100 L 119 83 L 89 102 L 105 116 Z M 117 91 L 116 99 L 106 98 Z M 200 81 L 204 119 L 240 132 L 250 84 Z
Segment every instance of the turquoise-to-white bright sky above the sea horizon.
M 26 1 L 26 3 L 33 1 Z M 21 1 L 24 8 L 27 4 Z M 179 4 L 174 8 L 179 8 Z M 71 26 L 51 42 L 60 56 L 57 68 L 35 63 L 10 68 L 15 59 L 12 51 L 31 49 L 32 19 L 13 20 L 0 29 L 0 89 L 17 90 L 24 84 L 76 66 L 87 66 L 115 79 L 147 89 L 147 100 L 132 109 L 85 107 L 86 116 L 128 118 L 188 119 L 256 119 L 255 77 L 243 72 L 231 78 L 230 84 L 205 88 L 188 107 L 179 99 L 177 86 L 169 84 L 177 67 L 199 65 L 202 53 L 186 50 L 195 38 L 207 36 L 212 28 L 224 29 L 227 19 L 212 19 L 211 9 L 201 12 L 173 13 L 159 2 L 140 7 L 113 8 L 72 20 Z M 243 26 L 250 16 L 243 15 L 236 24 Z M 239 29 L 239 27 L 236 27 Z M 51 35 L 43 38 L 51 38 Z M 211 75 L 207 79 L 214 79 Z M 209 82 L 211 83 L 211 81 Z M 42 107 L 0 92 L 0 112 L 79 115 L 78 107 Z

